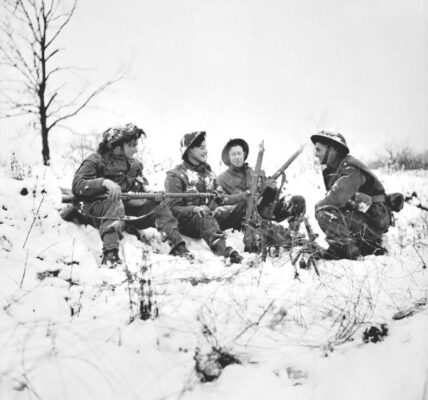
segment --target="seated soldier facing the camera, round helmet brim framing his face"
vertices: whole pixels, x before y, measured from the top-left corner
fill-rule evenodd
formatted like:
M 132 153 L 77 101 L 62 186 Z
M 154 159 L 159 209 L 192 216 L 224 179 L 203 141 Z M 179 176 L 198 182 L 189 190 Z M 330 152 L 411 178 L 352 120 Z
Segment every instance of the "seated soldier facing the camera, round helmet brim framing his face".
M 222 160 L 229 168 L 218 176 L 217 182 L 227 194 L 249 193 L 254 170 L 245 162 L 248 153 L 248 143 L 243 139 L 231 139 L 224 146 Z M 302 196 L 293 196 L 287 201 L 284 197 L 281 197 L 274 209 L 271 210 L 278 191 L 276 181 L 266 179 L 263 171 L 261 181 L 265 182 L 265 184 L 259 187 L 261 199 L 257 209 L 260 216 L 266 219 L 273 219 L 276 222 L 282 222 L 287 219 L 290 228 L 295 230 L 306 211 L 305 199 Z M 244 208 L 241 215 L 241 226 L 245 211 L 246 209 Z M 268 241 L 281 243 L 282 245 L 290 243 L 289 232 L 281 225 L 274 225 L 273 227 L 274 229 L 270 231 L 270 235 L 273 235 L 273 237 L 268 238 Z M 255 251 L 256 248 L 253 248 L 252 244 L 246 244 L 246 250 Z

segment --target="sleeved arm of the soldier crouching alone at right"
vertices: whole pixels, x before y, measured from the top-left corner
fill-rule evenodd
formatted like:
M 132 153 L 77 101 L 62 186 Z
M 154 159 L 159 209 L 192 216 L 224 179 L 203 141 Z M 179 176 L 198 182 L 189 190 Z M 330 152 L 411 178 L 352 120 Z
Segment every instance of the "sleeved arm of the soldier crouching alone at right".
M 322 206 L 344 207 L 354 197 L 365 180 L 366 178 L 358 168 L 347 165 L 324 199 L 317 203 L 316 208 Z

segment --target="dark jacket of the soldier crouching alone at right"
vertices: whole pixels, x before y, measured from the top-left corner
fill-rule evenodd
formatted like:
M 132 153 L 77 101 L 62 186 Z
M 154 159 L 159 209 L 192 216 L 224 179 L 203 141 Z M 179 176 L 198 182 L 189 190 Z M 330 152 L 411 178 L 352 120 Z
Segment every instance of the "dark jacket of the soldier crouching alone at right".
M 368 196 L 385 194 L 385 189 L 376 175 L 351 155 L 339 160 L 336 166 L 324 169 L 323 177 L 327 195 L 317 203 L 317 208 L 344 208 L 355 200 L 357 192 Z

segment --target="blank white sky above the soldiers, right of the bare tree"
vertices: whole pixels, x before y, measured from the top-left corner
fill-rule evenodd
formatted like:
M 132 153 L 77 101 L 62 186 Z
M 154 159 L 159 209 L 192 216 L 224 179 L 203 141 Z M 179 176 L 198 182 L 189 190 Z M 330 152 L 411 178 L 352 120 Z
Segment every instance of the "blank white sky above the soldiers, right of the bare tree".
M 79 71 L 92 83 L 130 65 L 94 103 L 109 112 L 71 124 L 81 132 L 134 122 L 178 159 L 181 136 L 206 130 L 214 167 L 229 138 L 250 161 L 264 138 L 280 164 L 318 129 L 363 159 L 428 148 L 423 0 L 85 0 L 61 40 L 61 62 L 95 68 Z

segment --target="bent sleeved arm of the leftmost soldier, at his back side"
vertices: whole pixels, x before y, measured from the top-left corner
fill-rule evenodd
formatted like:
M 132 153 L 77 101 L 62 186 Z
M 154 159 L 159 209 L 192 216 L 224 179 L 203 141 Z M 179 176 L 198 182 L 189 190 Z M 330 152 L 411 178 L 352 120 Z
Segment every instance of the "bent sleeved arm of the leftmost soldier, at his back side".
M 97 196 L 106 192 L 103 186 L 103 177 L 97 176 L 97 162 L 95 156 L 89 156 L 76 171 L 72 192 L 75 196 Z

